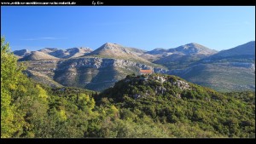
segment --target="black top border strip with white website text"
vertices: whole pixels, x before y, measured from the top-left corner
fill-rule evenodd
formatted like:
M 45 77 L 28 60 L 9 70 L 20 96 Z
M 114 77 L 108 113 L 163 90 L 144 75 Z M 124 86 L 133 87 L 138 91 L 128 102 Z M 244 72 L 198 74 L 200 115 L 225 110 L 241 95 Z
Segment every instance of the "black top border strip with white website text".
M 3 0 L 1 6 L 255 6 L 255 0 Z

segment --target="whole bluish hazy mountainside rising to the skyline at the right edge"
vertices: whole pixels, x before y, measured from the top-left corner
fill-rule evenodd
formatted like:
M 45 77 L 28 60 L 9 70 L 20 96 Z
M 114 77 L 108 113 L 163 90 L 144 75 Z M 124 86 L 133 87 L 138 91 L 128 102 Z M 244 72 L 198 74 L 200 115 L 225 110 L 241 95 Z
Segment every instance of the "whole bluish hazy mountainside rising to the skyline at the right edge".
M 221 91 L 255 90 L 255 41 L 220 51 L 169 74 Z

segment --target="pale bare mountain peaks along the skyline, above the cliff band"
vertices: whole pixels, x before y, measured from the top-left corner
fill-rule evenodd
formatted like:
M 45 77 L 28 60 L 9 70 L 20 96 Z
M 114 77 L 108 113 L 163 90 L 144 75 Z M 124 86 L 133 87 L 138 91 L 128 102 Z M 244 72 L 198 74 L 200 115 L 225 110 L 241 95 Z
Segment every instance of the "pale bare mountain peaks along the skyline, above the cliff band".
M 71 49 L 57 49 L 57 48 L 45 48 L 39 49 L 39 52 L 52 55 L 57 58 L 67 59 L 79 56 L 101 56 L 106 58 L 117 58 L 125 60 L 139 60 L 148 62 L 148 59 L 161 59 L 168 55 L 212 55 L 216 53 L 216 50 L 208 49 L 198 43 L 188 43 L 183 46 L 179 46 L 174 49 L 162 49 L 157 48 L 151 51 L 143 49 L 124 47 L 117 43 L 104 43 L 100 48 L 92 50 L 90 48 L 71 48 Z M 24 57 L 30 55 L 31 51 L 27 49 L 15 50 L 15 55 Z M 148 58 L 149 57 L 149 58 Z

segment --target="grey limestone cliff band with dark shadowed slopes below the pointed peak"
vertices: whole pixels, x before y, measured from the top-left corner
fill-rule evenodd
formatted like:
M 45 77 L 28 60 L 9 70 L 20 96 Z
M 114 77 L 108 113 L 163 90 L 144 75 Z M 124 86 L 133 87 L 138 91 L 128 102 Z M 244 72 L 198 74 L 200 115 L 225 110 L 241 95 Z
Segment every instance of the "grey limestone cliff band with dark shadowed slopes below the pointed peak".
M 107 89 L 127 74 L 138 74 L 139 69 L 153 69 L 154 72 L 167 73 L 166 69 L 148 66 L 131 60 L 108 58 L 78 58 L 69 60 L 33 60 L 29 62 L 31 73 L 40 73 L 58 84 L 93 90 Z M 33 75 L 37 78 L 37 75 Z M 46 80 L 41 80 L 44 82 Z

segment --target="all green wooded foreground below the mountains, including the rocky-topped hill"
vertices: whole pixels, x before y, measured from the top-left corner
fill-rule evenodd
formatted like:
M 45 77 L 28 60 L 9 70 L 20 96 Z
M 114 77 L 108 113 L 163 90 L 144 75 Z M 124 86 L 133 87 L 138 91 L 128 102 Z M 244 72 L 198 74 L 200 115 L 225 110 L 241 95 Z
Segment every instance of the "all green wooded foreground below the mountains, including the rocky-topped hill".
M 255 93 L 218 93 L 170 75 L 128 75 L 98 94 L 50 88 L 1 37 L 1 138 L 255 137 Z

